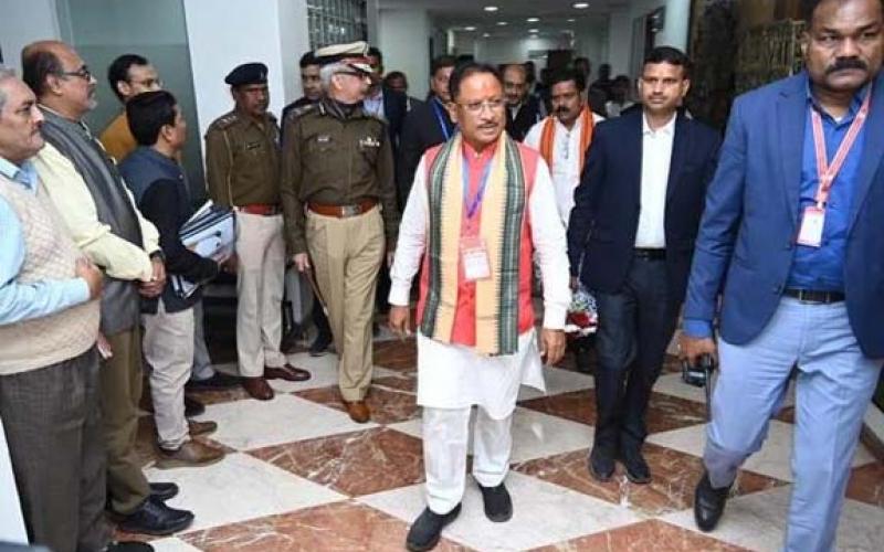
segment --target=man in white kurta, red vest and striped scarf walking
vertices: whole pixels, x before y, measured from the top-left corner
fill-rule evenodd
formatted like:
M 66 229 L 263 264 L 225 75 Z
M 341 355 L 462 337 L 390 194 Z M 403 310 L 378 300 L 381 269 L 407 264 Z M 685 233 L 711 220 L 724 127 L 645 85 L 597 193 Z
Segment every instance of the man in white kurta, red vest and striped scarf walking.
M 537 152 L 503 132 L 499 76 L 493 67 L 467 64 L 455 70 L 450 86 L 461 132 L 424 153 L 391 270 L 390 325 L 404 336 L 411 280 L 423 266 L 418 403 L 428 508 L 409 532 L 412 551 L 432 549 L 460 512 L 473 405 L 478 406 L 473 477 L 485 513 L 498 522 L 512 517 L 503 481 L 518 389 L 545 391 L 541 354 L 550 363 L 561 358 L 570 300 L 565 230 L 549 172 Z M 506 230 L 496 232 L 495 221 Z M 545 290 L 539 350 L 530 307 L 535 252 Z

